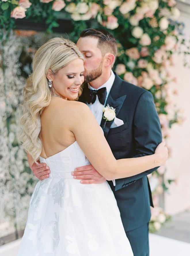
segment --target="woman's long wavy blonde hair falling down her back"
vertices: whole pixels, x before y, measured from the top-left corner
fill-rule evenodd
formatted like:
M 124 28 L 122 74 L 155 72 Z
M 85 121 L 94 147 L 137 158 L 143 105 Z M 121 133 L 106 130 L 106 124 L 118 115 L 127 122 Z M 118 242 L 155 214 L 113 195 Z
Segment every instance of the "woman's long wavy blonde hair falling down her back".
M 83 59 L 77 46 L 64 38 L 53 38 L 43 44 L 33 58 L 33 72 L 29 75 L 23 92 L 23 115 L 20 119 L 20 141 L 35 163 L 42 150 L 39 138 L 41 113 L 50 104 L 52 89 L 46 78 L 50 69 L 56 75 L 58 70 L 75 59 Z M 82 93 L 80 87 L 78 97 Z M 77 99 L 76 99 L 77 100 Z

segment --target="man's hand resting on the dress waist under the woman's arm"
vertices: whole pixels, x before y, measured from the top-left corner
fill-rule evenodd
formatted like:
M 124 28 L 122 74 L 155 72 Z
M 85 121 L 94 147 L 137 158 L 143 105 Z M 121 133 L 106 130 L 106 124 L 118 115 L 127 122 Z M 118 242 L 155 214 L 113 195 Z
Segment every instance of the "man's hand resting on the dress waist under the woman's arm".
M 97 184 L 106 181 L 106 179 L 98 173 L 92 165 L 77 167 L 71 172 L 71 175 L 73 175 L 74 179 L 81 180 L 80 182 L 82 184 Z

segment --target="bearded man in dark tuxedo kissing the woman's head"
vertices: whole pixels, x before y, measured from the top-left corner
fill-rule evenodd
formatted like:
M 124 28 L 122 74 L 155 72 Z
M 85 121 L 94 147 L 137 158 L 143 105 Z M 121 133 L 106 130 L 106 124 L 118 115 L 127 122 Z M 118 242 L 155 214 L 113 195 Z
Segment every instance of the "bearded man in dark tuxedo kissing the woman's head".
M 117 56 L 115 38 L 104 30 L 85 29 L 77 46 L 84 55 L 87 82 L 79 100 L 90 107 L 115 158 L 153 154 L 162 140 L 153 96 L 149 91 L 120 79 L 111 70 Z M 107 104 L 115 108 L 116 118 L 105 123 L 102 108 Z M 40 180 L 49 176 L 50 170 L 43 164 L 33 164 L 31 169 Z M 155 169 L 109 182 L 134 256 L 149 255 L 150 205 L 153 203 L 147 174 Z M 79 167 L 72 174 L 82 184 L 105 181 L 92 165 Z

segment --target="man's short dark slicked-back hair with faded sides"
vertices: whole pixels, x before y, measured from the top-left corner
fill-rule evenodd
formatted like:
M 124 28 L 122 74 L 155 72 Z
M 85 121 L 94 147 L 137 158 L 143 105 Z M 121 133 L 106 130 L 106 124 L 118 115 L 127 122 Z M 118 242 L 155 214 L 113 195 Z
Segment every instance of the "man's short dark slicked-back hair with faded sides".
M 117 42 L 115 37 L 104 29 L 84 29 L 80 33 L 80 37 L 95 37 L 98 38 L 98 48 L 102 52 L 102 56 L 111 52 L 117 56 Z

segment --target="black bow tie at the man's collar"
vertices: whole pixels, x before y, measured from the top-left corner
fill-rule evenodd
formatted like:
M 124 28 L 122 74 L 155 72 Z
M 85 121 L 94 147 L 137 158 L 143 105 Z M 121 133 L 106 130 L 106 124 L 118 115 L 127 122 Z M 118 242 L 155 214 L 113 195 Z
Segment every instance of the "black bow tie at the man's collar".
M 105 99 L 106 99 L 106 87 L 103 87 L 99 90 L 91 90 L 89 88 L 83 89 L 83 94 L 85 96 L 85 100 L 88 102 L 88 104 L 92 103 L 94 104 L 96 100 L 96 95 L 98 95 L 99 102 L 104 105 Z

